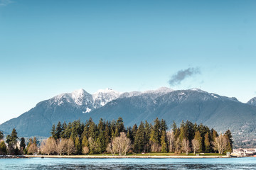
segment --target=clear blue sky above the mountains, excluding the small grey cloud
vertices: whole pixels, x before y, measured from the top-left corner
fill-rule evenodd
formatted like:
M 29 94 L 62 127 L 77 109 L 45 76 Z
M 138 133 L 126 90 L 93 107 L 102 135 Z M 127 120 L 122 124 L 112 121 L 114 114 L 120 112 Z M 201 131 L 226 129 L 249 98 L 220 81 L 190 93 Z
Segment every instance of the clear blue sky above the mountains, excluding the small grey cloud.
M 256 96 L 256 1 L 0 0 L 0 123 L 57 94 Z M 194 74 L 169 85 L 180 70 Z

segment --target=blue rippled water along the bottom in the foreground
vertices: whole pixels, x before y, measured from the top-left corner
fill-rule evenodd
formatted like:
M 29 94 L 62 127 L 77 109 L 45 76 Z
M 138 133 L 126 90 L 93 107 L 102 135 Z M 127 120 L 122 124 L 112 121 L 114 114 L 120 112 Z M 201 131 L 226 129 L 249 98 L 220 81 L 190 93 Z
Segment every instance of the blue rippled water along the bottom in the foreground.
M 256 169 L 256 158 L 0 159 L 0 169 Z

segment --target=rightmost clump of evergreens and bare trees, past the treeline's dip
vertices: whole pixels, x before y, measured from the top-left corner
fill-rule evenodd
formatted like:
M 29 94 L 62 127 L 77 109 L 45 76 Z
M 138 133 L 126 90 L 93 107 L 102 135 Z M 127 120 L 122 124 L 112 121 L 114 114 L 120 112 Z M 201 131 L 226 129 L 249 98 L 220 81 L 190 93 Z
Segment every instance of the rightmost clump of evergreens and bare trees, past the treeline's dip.
M 225 134 L 220 134 L 212 128 L 211 130 L 206 125 L 197 125 L 186 121 L 181 122 L 177 128 L 174 122 L 171 125 L 171 132 L 167 132 L 169 141 L 169 152 L 218 152 L 225 154 L 233 150 L 233 137 L 230 130 Z

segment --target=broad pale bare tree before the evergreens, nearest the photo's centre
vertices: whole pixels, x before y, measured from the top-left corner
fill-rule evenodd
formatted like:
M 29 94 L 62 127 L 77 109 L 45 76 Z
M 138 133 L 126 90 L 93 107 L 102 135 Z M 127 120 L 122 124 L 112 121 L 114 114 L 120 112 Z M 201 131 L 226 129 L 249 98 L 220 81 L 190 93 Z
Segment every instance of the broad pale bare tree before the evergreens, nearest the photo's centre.
M 120 132 L 119 137 L 114 137 L 113 145 L 115 148 L 117 148 L 119 155 L 126 155 L 128 150 L 131 148 L 131 140 L 129 140 L 124 132 Z

